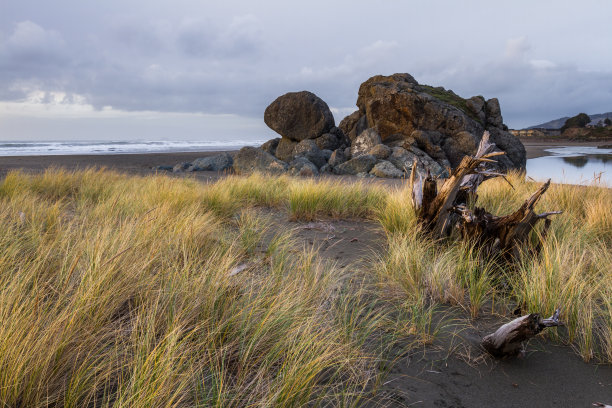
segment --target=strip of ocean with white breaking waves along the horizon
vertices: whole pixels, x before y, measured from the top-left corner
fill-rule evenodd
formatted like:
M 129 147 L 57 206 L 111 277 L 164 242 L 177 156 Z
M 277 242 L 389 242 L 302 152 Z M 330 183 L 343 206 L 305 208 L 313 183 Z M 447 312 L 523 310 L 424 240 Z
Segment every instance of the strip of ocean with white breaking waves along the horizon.
M 238 150 L 265 140 L 2 142 L 0 156 L 172 153 Z

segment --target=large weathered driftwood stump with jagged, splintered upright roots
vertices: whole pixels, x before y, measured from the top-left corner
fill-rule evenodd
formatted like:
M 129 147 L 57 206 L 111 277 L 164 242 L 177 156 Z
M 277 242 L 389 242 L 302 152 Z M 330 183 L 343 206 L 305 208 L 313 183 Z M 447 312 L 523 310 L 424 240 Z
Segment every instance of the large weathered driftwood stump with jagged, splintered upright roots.
M 429 172 L 425 178 L 419 175 L 416 179 L 416 171 L 413 171 L 410 188 L 419 223 L 435 238 L 447 237 L 453 230 L 458 230 L 463 239 L 476 243 L 489 253 L 516 257 L 523 247 L 528 246 L 530 233 L 538 221 L 544 220 L 539 243 L 529 248 L 532 252 L 538 252 L 550 226 L 548 217 L 561 213 L 534 212 L 538 200 L 550 186 L 550 180 L 511 214 L 499 217 L 474 206 L 478 186 L 483 181 L 494 177 L 505 179 L 503 174 L 491 167 L 495 162 L 492 158 L 504 154 L 494 151 L 495 147 L 489 139 L 489 132 L 485 131 L 476 154 L 473 157 L 465 156 L 439 191 L 436 180 Z M 416 169 L 416 162 L 413 169 Z

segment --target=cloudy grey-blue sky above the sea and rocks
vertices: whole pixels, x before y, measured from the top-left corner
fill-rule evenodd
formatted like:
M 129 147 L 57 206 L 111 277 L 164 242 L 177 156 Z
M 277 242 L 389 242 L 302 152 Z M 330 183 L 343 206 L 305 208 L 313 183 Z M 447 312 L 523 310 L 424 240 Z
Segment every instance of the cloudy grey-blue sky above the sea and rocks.
M 396 72 L 518 129 L 612 111 L 610 44 L 608 0 L 0 0 L 0 141 L 268 139 L 276 97 L 339 123 Z

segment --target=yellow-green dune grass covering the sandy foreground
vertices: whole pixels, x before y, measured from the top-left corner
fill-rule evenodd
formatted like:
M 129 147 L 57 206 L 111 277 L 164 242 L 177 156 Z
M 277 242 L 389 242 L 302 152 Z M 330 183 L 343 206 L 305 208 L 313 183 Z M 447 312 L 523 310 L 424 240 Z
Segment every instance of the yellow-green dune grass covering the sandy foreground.
M 536 186 L 485 183 L 503 214 Z M 285 176 L 213 184 L 111 171 L 0 183 L 0 405 L 355 406 L 394 342 L 429 344 L 440 305 L 466 318 L 524 304 L 585 359 L 612 363 L 611 190 L 552 186 L 563 210 L 538 258 L 504 270 L 432 242 L 408 192 Z M 374 272 L 342 272 L 257 207 L 293 220 L 367 218 Z M 272 237 L 272 238 L 270 238 Z M 297 249 L 296 249 L 297 248 Z M 239 267 L 239 268 L 237 268 Z

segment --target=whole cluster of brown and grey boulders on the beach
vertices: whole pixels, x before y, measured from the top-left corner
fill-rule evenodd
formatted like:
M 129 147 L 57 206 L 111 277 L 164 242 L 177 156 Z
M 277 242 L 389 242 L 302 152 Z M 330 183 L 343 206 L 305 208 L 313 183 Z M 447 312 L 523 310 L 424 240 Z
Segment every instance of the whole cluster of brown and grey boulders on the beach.
M 361 84 L 357 107 L 336 126 L 321 98 L 308 91 L 287 93 L 264 114 L 265 123 L 281 137 L 261 147 L 244 147 L 233 161 L 229 155 L 213 156 L 189 166 L 398 178 L 409 175 L 416 160 L 418 171 L 445 177 L 463 156 L 476 152 L 488 130 L 491 141 L 506 153 L 498 157 L 499 170 L 525 167 L 525 148 L 503 124 L 496 98 L 464 99 L 442 87 L 420 85 L 409 74 L 394 74 Z

